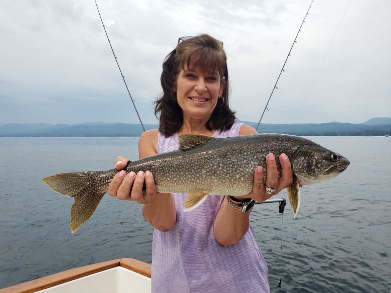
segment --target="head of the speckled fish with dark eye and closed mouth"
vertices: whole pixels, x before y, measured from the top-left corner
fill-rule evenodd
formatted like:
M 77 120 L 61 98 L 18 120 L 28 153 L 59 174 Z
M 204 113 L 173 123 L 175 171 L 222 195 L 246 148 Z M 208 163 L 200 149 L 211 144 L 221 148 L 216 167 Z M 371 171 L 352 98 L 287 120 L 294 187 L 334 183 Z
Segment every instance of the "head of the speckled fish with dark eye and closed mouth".
M 292 162 L 292 170 L 302 185 L 336 177 L 350 164 L 340 154 L 317 144 L 302 145 Z

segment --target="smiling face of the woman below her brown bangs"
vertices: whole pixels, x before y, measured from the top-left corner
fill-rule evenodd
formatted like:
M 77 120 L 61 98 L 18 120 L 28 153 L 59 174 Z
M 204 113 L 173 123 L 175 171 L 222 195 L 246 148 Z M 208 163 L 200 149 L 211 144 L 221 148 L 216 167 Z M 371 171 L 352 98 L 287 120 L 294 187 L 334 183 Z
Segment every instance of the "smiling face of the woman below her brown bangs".
M 176 99 L 185 119 L 208 120 L 224 90 L 218 72 L 181 69 L 175 82 Z

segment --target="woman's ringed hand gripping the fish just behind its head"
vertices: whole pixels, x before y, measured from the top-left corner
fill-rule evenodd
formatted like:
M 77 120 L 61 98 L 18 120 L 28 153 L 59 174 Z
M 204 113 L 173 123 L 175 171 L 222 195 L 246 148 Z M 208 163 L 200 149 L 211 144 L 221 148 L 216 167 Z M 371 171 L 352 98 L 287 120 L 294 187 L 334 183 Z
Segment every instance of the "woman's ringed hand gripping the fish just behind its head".
M 254 173 L 253 190 L 248 195 L 244 195 L 243 198 L 252 198 L 255 201 L 262 202 L 292 184 L 293 172 L 288 156 L 286 154 L 281 154 L 279 160 L 281 164 L 281 177 L 278 177 L 276 158 L 272 153 L 268 154 L 266 156 L 266 184 L 263 183 L 264 168 L 258 166 Z M 276 190 L 271 194 L 268 194 L 265 185 Z

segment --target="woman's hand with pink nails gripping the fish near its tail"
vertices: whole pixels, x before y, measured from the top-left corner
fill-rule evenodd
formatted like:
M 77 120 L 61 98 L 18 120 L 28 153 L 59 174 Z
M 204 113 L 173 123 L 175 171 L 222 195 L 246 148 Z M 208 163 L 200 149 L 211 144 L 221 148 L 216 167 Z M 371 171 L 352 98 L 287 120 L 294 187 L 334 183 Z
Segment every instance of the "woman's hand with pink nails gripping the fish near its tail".
M 137 174 L 133 171 L 126 173 L 123 168 L 126 167 L 128 159 L 117 157 L 115 159 L 115 168 L 120 170 L 108 188 L 110 196 L 117 197 L 120 200 L 132 200 L 140 204 L 152 203 L 156 198 L 156 187 L 153 174 L 150 171 L 139 171 Z M 145 190 L 143 192 L 143 186 Z

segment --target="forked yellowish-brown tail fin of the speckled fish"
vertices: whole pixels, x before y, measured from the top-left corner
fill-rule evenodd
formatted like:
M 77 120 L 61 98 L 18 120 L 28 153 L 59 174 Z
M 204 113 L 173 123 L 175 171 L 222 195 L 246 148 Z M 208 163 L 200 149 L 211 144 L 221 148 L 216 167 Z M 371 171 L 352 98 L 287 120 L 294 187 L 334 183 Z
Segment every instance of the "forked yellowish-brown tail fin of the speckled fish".
M 115 172 L 118 171 L 71 172 L 42 179 L 54 191 L 74 198 L 70 223 L 72 233 L 92 216 L 103 195 L 107 192 Z

